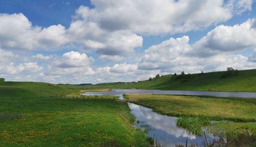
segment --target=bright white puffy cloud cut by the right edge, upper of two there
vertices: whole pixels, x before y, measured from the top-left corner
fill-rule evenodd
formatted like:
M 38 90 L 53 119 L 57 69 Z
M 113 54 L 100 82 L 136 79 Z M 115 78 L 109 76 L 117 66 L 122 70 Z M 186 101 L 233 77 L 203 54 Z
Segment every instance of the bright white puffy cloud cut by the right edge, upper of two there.
M 199 50 L 238 51 L 255 47 L 255 21 L 255 19 L 248 19 L 246 22 L 234 26 L 220 25 L 196 42 L 195 48 L 199 48 Z

